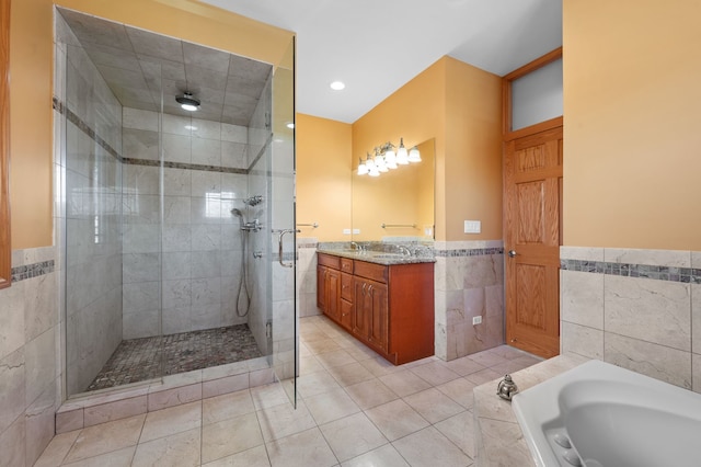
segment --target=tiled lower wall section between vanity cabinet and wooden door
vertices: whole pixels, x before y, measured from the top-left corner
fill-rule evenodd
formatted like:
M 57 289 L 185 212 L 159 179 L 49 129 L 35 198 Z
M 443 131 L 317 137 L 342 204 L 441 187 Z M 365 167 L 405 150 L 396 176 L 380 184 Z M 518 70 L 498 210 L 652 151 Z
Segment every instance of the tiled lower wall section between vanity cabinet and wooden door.
M 501 240 L 437 241 L 436 356 L 450 361 L 504 343 Z M 491 253 L 489 253 L 491 251 Z M 481 324 L 472 318 L 481 316 Z

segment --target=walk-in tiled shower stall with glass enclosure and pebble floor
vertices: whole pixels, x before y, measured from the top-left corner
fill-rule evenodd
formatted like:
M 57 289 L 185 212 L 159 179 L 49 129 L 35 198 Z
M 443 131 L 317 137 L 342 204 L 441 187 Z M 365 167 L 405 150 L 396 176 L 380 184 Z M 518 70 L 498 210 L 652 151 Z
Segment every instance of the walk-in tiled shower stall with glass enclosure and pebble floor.
M 68 396 L 250 358 L 294 376 L 294 46 L 274 67 L 56 24 Z

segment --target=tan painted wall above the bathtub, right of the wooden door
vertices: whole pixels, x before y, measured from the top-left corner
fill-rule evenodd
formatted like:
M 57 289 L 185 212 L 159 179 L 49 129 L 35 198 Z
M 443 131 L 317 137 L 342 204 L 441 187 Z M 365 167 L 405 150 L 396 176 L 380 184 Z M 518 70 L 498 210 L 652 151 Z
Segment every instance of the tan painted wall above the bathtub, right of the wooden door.
M 563 8 L 564 243 L 701 250 L 701 3 Z

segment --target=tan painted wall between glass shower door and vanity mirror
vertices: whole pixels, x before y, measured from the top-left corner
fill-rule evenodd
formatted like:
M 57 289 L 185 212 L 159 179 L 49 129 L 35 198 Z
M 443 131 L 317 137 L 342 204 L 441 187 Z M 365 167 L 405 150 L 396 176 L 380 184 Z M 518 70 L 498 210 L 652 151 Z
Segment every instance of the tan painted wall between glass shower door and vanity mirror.
M 350 241 L 350 125 L 297 114 L 297 223 L 299 237 Z

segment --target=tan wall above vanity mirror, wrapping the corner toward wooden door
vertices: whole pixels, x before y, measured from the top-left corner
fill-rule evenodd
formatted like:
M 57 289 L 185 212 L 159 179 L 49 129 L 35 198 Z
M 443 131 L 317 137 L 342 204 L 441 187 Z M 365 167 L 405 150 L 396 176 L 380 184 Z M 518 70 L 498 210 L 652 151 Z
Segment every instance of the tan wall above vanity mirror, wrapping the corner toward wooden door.
M 353 157 L 436 138 L 436 240 L 502 238 L 501 78 L 444 57 L 353 124 Z M 482 232 L 463 234 L 463 220 Z

